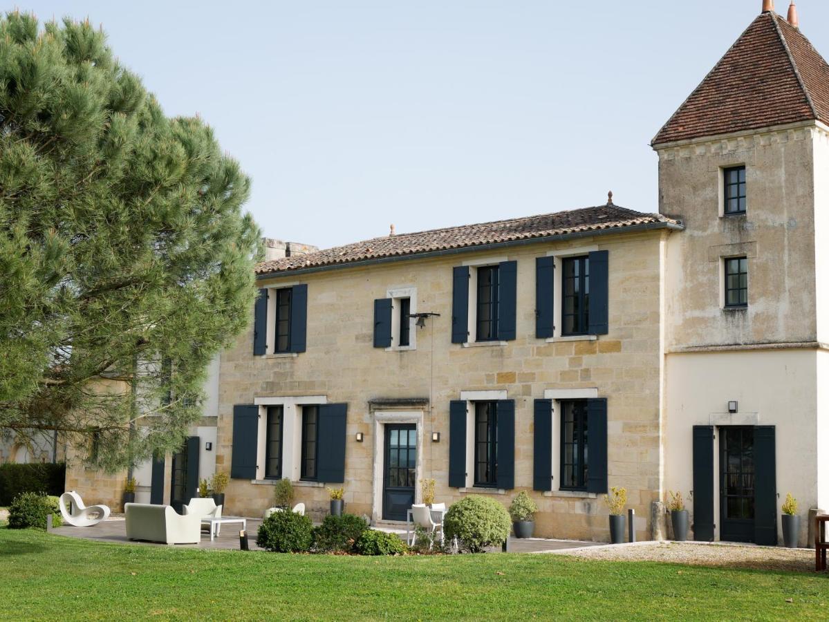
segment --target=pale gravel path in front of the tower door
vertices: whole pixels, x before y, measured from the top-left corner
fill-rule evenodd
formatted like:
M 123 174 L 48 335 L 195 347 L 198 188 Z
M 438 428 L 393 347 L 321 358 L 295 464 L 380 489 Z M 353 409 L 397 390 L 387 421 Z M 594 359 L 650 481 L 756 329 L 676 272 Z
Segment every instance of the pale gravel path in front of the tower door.
M 647 542 L 615 547 L 556 552 L 558 555 L 620 562 L 670 562 L 691 566 L 813 572 L 815 552 L 809 548 L 745 547 L 734 544 Z

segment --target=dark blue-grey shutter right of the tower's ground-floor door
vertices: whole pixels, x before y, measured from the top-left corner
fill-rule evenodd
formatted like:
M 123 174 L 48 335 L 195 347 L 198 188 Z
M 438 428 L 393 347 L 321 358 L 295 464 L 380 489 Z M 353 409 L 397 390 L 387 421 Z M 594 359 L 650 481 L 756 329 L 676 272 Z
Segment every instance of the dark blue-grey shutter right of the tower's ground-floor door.
M 777 546 L 777 469 L 774 426 L 754 428 L 754 543 Z

